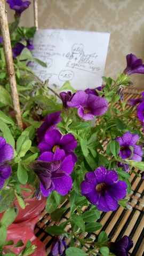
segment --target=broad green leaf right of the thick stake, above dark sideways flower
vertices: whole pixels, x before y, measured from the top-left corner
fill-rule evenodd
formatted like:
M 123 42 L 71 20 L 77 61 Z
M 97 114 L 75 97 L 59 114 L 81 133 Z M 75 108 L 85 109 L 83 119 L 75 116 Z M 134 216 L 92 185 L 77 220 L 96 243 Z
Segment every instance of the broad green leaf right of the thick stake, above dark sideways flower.
M 42 109 L 49 111 L 55 110 L 55 103 L 44 95 L 37 95 L 31 98 L 31 101 L 34 101 Z

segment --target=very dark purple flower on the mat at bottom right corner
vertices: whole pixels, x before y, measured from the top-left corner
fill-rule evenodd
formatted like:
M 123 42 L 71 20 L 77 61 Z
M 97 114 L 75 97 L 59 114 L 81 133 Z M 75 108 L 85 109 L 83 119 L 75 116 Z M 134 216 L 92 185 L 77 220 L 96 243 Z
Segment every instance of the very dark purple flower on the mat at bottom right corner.
M 133 241 L 129 236 L 123 236 L 117 242 L 109 242 L 110 252 L 116 256 L 128 256 L 130 249 L 133 247 Z

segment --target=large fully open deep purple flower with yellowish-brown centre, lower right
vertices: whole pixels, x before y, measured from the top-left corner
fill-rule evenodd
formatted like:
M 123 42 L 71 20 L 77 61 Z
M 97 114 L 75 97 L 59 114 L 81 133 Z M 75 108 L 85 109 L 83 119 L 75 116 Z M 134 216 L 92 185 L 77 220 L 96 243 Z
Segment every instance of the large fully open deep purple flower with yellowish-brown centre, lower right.
M 117 201 L 125 197 L 126 188 L 126 182 L 118 180 L 115 171 L 100 166 L 94 172 L 85 174 L 81 194 L 93 205 L 97 205 L 99 211 L 108 212 L 117 209 Z

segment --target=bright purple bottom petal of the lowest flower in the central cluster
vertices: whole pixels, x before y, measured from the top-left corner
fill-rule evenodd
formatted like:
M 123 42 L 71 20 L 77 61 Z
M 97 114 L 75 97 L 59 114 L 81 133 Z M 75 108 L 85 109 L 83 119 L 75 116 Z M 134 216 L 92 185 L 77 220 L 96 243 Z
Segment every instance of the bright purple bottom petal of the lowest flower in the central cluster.
M 65 196 L 72 186 L 72 179 L 69 175 L 65 175 L 58 179 L 52 179 L 54 189 L 61 195 Z

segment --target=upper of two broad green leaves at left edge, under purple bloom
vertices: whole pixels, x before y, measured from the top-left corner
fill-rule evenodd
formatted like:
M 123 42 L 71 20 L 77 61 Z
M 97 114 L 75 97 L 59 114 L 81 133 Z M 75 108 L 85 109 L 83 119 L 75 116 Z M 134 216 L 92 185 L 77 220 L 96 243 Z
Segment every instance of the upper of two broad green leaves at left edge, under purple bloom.
M 14 190 L 4 189 L 1 193 L 0 212 L 5 211 L 14 201 Z

